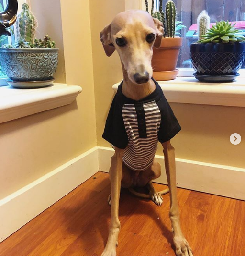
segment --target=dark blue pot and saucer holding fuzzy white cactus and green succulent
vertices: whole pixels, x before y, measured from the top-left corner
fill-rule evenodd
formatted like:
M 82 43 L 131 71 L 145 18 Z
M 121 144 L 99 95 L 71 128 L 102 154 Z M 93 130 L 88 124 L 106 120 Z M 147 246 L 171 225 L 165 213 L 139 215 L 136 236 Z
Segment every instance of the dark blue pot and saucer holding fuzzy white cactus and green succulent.
M 209 25 L 207 12 L 198 18 L 199 41 L 190 45 L 194 76 L 204 82 L 233 81 L 245 60 L 245 37 L 235 23 L 220 21 Z

